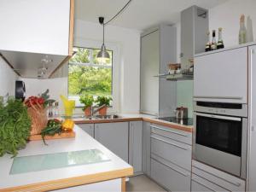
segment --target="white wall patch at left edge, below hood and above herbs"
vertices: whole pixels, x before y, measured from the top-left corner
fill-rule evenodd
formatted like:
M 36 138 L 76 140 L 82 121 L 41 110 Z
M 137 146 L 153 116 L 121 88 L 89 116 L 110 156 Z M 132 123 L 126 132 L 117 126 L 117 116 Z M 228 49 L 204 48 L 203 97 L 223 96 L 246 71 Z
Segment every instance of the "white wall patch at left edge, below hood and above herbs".
M 0 57 L 0 96 L 15 96 L 15 80 L 17 79 L 16 73 L 3 61 Z

